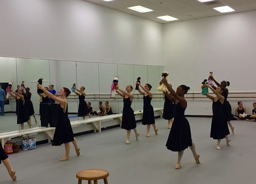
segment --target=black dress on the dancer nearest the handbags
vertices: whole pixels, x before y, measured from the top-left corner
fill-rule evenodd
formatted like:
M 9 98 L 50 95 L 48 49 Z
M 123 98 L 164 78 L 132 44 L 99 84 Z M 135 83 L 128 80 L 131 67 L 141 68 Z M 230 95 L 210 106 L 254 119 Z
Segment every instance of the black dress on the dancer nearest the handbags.
M 60 103 L 58 103 L 57 115 L 58 122 L 52 140 L 53 146 L 60 146 L 63 143 L 65 144 L 74 140 L 73 130 L 70 124 L 70 120 L 68 119 L 68 104 L 66 102 L 64 104 L 64 108 L 62 108 Z

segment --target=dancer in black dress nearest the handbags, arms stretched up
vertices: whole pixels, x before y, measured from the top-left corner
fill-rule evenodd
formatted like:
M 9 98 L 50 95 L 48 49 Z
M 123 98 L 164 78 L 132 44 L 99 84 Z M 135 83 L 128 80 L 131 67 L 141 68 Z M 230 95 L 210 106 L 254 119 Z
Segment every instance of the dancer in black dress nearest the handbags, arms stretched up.
M 76 151 L 76 155 L 80 155 L 80 149 L 78 148 L 76 138 L 74 137 L 73 130 L 70 124 L 70 119 L 68 119 L 68 103 L 66 101 L 66 97 L 70 95 L 70 90 L 66 87 L 63 87 L 60 90 L 60 97 L 58 98 L 51 94 L 47 89 L 45 89 L 41 84 L 37 84 L 37 89 L 41 89 L 44 91 L 49 98 L 58 102 L 57 106 L 57 115 L 58 115 L 58 122 L 55 128 L 52 145 L 53 146 L 60 146 L 63 143 L 65 144 L 65 156 L 60 159 L 60 161 L 69 160 L 70 154 L 70 142 L 73 143 Z

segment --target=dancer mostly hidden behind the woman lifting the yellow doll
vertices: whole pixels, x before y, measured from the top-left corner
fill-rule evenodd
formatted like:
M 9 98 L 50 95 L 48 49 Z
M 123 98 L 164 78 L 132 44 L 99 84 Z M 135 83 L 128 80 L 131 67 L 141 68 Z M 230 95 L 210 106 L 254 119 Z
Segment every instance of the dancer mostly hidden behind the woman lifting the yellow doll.
M 171 87 L 172 85 L 169 84 Z M 167 94 L 166 94 L 167 93 Z M 164 112 L 163 112 L 163 118 L 168 120 L 168 128 L 171 129 L 171 123 L 173 123 L 173 102 L 169 100 L 167 95 L 171 95 L 171 92 L 168 91 L 165 92 L 164 95 Z

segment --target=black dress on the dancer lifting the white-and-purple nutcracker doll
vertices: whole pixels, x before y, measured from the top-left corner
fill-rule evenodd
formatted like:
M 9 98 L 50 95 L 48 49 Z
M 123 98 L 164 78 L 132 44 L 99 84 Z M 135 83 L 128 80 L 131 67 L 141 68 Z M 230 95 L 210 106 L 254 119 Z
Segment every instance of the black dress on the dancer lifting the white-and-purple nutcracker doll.
M 132 130 L 137 127 L 131 103 L 130 97 L 123 97 L 122 129 Z

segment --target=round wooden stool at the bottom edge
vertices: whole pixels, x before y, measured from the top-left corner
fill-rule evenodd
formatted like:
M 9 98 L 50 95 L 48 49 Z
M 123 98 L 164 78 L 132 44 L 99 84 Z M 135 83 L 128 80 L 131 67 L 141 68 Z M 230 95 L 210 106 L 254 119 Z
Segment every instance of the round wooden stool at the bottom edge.
M 82 180 L 88 180 L 88 184 L 93 183 L 98 184 L 98 179 L 103 179 L 104 184 L 108 184 L 107 177 L 109 172 L 103 169 L 85 169 L 76 173 L 76 178 L 78 178 L 78 184 L 82 183 Z

